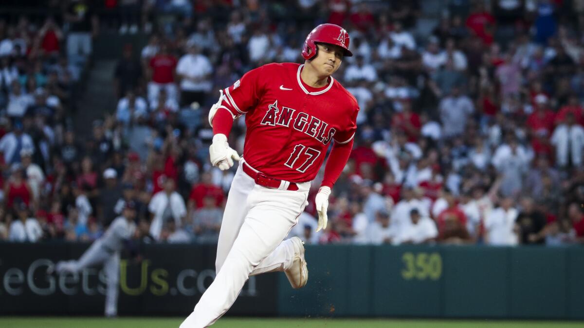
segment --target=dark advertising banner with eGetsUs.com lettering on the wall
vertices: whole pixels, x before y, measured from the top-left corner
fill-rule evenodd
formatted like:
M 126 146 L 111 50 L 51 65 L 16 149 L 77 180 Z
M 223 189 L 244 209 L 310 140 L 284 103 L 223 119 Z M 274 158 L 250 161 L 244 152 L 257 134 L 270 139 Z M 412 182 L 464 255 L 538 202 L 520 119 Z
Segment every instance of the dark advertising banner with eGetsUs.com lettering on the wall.
M 101 315 L 102 267 L 48 274 L 89 245 L 0 243 L 0 315 Z M 144 245 L 140 261 L 122 257 L 120 315 L 187 315 L 215 277 L 215 245 Z M 251 277 L 230 315 L 275 315 L 276 274 Z

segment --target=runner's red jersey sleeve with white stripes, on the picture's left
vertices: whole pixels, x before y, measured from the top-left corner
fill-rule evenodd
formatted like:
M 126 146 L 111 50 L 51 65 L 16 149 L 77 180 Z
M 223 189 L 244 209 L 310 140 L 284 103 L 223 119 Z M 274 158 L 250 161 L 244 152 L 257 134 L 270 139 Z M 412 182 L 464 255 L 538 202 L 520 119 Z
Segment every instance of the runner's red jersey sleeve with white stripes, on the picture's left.
M 264 83 L 269 76 L 265 70 L 265 66 L 252 69 L 232 86 L 225 88 L 221 104 L 236 117 L 252 110 L 264 92 Z

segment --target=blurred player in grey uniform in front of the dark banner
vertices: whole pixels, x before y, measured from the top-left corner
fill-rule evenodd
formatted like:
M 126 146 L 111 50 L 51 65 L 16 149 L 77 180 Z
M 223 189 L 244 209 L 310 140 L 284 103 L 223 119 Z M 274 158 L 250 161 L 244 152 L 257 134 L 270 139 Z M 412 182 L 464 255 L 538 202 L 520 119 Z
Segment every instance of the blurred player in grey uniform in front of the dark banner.
M 57 274 L 64 272 L 78 273 L 86 267 L 103 264 L 107 275 L 106 308 L 105 315 L 114 317 L 117 315 L 117 292 L 120 279 L 120 251 L 127 245 L 128 240 L 134 235 L 136 215 L 133 202 L 127 202 L 120 217 L 114 219 L 112 224 L 101 238 L 95 240 L 88 250 L 77 261 L 59 261 L 54 269 Z

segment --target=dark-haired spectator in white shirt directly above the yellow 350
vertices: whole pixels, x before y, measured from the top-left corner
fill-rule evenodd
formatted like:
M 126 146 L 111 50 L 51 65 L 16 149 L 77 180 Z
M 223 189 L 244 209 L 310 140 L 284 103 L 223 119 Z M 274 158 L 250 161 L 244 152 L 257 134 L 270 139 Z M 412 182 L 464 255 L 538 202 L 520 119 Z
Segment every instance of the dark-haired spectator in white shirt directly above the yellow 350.
M 426 215 L 420 215 L 418 209 L 409 212 L 411 224 L 395 236 L 394 244 L 423 244 L 432 242 L 438 236 L 436 223 Z

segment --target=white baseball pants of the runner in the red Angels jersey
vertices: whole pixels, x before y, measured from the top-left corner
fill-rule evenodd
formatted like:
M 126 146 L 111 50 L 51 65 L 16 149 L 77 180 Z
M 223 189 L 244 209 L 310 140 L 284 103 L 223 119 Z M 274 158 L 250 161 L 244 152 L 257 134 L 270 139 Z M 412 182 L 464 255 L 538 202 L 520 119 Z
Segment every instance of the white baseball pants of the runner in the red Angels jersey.
M 221 317 L 250 275 L 284 271 L 294 260 L 292 242 L 284 240 L 308 204 L 310 182 L 297 191 L 258 186 L 242 170 L 233 182 L 217 245 L 217 276 L 180 328 L 203 328 Z

